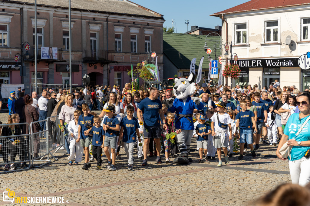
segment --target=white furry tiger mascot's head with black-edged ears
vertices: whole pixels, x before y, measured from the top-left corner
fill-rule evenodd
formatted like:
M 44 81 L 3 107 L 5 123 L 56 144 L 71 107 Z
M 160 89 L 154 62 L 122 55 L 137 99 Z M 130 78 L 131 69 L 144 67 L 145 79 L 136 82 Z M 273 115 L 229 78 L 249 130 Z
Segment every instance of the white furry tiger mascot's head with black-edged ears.
M 175 86 L 173 87 L 173 93 L 178 99 L 186 99 L 188 96 L 192 96 L 196 92 L 194 83 L 195 74 L 192 72 L 188 78 L 175 77 Z

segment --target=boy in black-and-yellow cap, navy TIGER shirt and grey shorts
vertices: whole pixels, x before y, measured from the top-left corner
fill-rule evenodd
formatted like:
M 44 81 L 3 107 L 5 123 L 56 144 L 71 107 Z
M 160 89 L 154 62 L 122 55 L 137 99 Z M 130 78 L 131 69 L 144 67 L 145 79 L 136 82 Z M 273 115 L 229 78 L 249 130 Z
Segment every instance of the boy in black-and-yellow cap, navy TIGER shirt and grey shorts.
M 116 159 L 116 153 L 115 149 L 117 147 L 117 136 L 119 133 L 119 121 L 118 119 L 113 115 L 115 113 L 115 109 L 112 106 L 108 106 L 107 109 L 104 109 L 106 116 L 103 120 L 103 129 L 105 131 L 105 137 L 104 137 L 104 153 L 108 158 L 108 169 L 110 171 L 116 170 L 115 167 L 115 159 Z M 111 154 L 112 154 L 112 160 L 109 153 L 109 147 L 111 146 Z

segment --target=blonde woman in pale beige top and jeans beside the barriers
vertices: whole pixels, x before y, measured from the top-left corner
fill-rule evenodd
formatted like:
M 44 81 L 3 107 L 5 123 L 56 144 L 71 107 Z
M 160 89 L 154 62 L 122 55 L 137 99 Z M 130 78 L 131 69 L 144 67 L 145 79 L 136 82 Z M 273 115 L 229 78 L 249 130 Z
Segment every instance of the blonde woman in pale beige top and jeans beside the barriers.
M 69 123 L 71 121 L 74 121 L 74 111 L 78 109 L 77 105 L 73 105 L 73 96 L 72 94 L 67 94 L 64 100 L 65 105 L 61 107 L 61 111 L 59 113 L 59 121 L 60 125 L 63 127 L 68 127 Z M 64 122 L 67 124 L 64 125 Z M 62 129 L 62 131 L 65 132 L 65 134 L 68 133 L 68 130 Z M 68 143 L 68 134 L 64 136 L 66 142 L 65 142 L 65 147 L 70 155 L 70 149 L 69 149 L 69 143 Z

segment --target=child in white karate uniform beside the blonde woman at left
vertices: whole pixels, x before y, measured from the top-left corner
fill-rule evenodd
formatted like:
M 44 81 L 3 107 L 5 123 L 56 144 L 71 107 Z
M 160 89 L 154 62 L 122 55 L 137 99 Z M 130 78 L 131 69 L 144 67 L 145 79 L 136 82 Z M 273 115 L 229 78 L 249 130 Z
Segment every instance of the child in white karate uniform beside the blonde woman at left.
M 78 139 L 78 118 L 81 115 L 80 110 L 74 111 L 74 120 L 68 125 L 68 141 L 70 143 L 70 155 L 68 157 L 68 165 L 78 165 L 82 161 L 83 148 L 81 147 L 81 141 Z M 73 161 L 75 161 L 73 163 Z

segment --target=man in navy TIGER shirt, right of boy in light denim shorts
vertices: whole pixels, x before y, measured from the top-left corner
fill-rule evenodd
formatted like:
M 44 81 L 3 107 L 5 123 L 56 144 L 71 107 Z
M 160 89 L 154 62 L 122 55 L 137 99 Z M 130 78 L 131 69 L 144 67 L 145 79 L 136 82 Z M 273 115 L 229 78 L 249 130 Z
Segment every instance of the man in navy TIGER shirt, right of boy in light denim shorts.
M 254 148 L 259 148 L 259 139 L 262 138 L 262 127 L 263 123 L 267 122 L 267 106 L 264 102 L 260 101 L 260 93 L 255 92 L 254 93 L 254 99 L 255 101 L 252 101 L 252 105 L 255 105 L 257 108 L 257 133 L 254 135 Z

